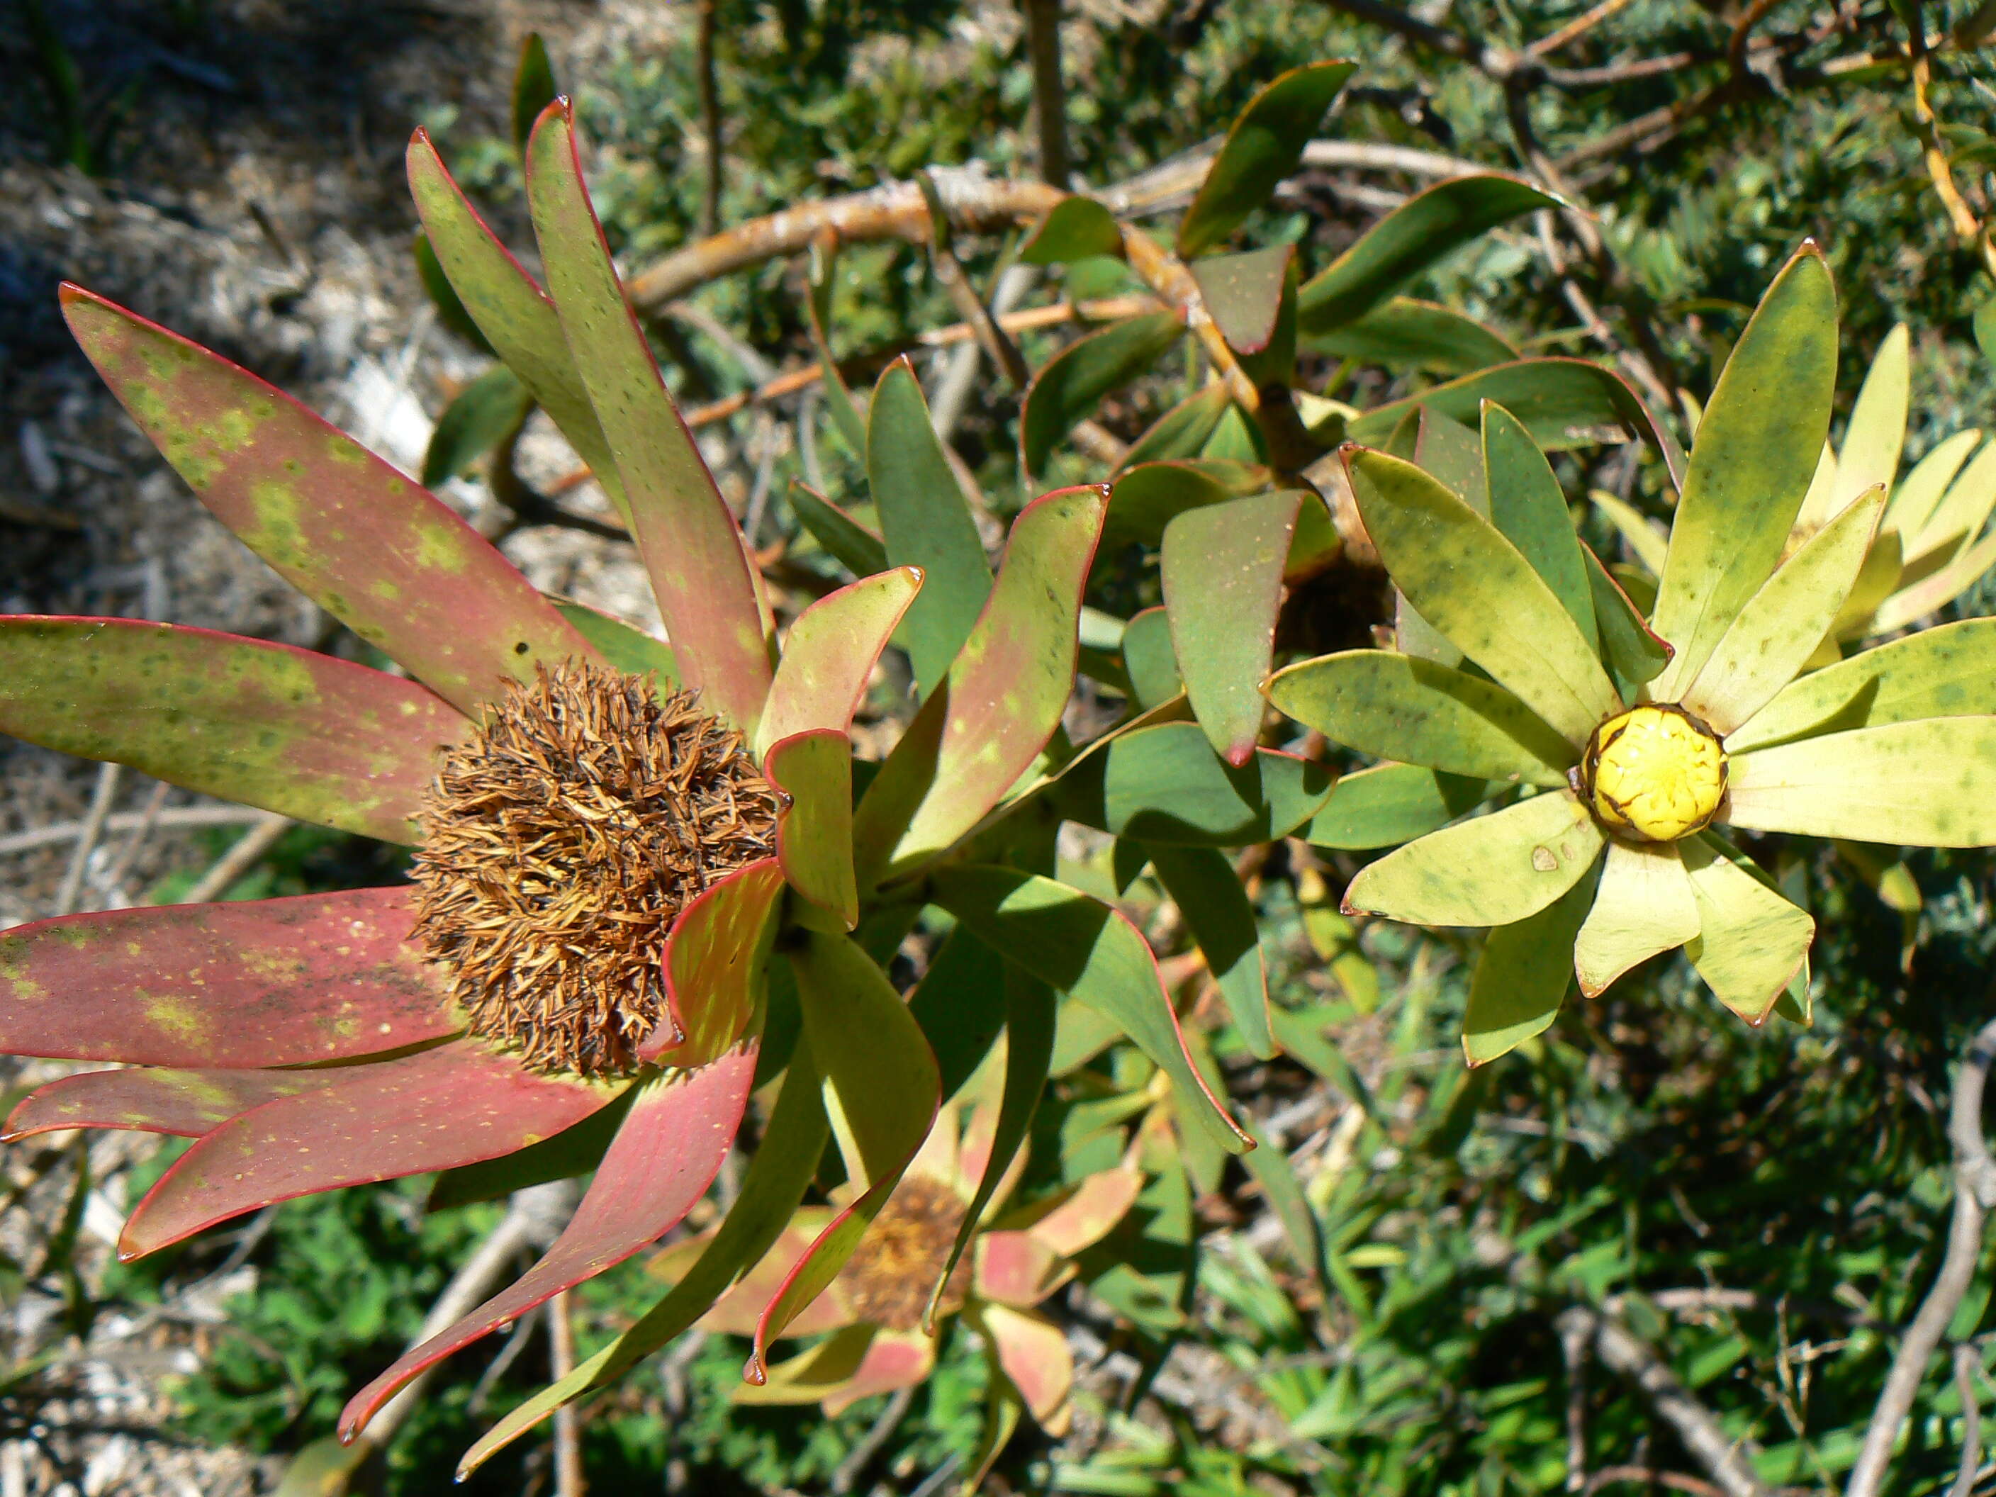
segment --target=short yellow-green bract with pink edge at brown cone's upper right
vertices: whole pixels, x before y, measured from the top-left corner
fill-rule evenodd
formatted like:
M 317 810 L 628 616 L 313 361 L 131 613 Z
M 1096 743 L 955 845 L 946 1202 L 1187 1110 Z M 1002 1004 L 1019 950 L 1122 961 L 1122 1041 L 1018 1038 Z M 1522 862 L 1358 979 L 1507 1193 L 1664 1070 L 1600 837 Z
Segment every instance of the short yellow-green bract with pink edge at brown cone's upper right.
M 920 587 L 920 567 L 894 567 L 826 593 L 798 615 L 756 725 L 756 752 L 792 733 L 852 727 L 880 651 Z

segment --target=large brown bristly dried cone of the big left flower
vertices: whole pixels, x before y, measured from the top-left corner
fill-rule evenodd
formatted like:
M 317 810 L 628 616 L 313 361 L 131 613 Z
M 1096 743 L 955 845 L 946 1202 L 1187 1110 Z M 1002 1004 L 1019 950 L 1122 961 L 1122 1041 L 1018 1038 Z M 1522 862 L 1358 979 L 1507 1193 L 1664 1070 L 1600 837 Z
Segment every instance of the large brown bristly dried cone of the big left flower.
M 507 687 L 423 804 L 417 938 L 471 1032 L 525 1066 L 635 1068 L 665 1016 L 665 938 L 774 850 L 776 796 L 699 693 L 583 661 Z

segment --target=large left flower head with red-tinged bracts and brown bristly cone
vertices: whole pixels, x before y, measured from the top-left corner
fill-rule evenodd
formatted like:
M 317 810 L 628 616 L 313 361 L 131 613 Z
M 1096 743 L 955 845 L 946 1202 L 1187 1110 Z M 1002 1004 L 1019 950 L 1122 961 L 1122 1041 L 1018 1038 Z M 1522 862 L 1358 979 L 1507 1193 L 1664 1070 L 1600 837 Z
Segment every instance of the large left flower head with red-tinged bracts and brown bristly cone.
M 1104 491 L 1028 503 L 972 607 L 946 599 L 954 639 L 922 635 L 942 665 L 854 806 L 848 727 L 926 597 L 922 569 L 818 599 L 778 649 L 762 579 L 627 309 L 565 100 L 527 144 L 545 289 L 423 136 L 409 176 L 463 307 L 615 501 L 671 643 L 541 597 L 297 401 L 64 287 L 84 351 L 200 499 L 407 677 L 176 625 L 12 617 L 0 731 L 407 844 L 413 878 L 8 932 L 0 1048 L 128 1066 L 40 1088 L 8 1136 L 196 1140 L 132 1212 L 126 1257 L 341 1186 L 477 1168 L 467 1190 L 489 1196 L 593 1170 L 541 1261 L 355 1395 L 345 1439 L 423 1367 L 677 1226 L 758 1074 L 780 1084 L 723 1230 L 651 1315 L 495 1439 L 699 1319 L 776 1242 L 836 1140 L 848 1190 L 758 1307 L 747 1375 L 762 1379 L 768 1343 L 838 1275 L 998 1032 L 1004 1172 L 1044 1082 L 1056 988 L 1112 1016 L 1198 1098 L 1202 1126 L 1244 1148 L 1142 936 L 958 846 L 1058 729 Z M 994 948 L 1018 968 L 982 1008 L 968 992 L 910 1006 L 882 970 L 930 902 L 960 924 L 958 968 L 1006 970 Z M 778 1002 L 796 1022 L 766 1022 Z

